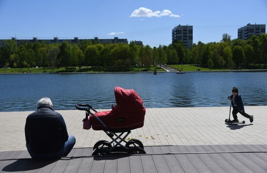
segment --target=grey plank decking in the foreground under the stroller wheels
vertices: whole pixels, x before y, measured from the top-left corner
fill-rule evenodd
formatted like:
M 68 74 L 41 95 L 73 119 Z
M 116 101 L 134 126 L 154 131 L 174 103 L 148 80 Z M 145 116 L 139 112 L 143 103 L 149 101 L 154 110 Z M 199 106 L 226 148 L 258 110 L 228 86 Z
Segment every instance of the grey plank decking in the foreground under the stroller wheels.
M 66 158 L 35 161 L 27 151 L 0 152 L 1 172 L 26 173 L 235 173 L 267 172 L 267 145 L 146 146 L 146 155 L 91 157 L 74 148 Z

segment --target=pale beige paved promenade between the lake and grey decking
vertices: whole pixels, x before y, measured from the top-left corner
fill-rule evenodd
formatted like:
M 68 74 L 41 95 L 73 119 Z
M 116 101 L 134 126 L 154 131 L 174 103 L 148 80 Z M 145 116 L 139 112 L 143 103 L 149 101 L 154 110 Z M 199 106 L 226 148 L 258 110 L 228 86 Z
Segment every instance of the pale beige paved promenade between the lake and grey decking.
M 238 115 L 244 125 L 228 126 L 224 119 L 229 107 L 150 108 L 143 128 L 132 130 L 130 138 L 144 145 L 267 144 L 267 106 L 246 106 L 254 122 Z M 57 111 L 63 115 L 67 130 L 76 137 L 74 147 L 92 147 L 108 140 L 103 131 L 83 130 L 83 111 Z M 32 112 L 0 112 L 0 151 L 26 150 L 24 126 Z

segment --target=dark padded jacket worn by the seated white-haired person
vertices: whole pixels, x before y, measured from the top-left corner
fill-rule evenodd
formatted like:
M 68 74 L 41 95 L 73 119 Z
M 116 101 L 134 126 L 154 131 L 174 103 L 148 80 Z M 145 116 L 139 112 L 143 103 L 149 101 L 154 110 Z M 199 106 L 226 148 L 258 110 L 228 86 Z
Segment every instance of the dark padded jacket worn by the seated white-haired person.
M 58 151 L 67 141 L 67 127 L 62 115 L 49 106 L 42 106 L 28 115 L 25 137 L 32 152 L 54 152 Z

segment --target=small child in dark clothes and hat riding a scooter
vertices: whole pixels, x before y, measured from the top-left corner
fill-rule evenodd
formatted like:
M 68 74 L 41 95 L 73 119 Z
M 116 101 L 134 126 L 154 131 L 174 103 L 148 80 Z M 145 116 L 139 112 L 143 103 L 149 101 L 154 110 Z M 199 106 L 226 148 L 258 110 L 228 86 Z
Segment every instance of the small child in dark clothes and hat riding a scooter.
M 249 118 L 250 123 L 253 122 L 253 115 L 248 115 L 247 113 L 245 113 L 244 104 L 243 104 L 241 95 L 238 95 L 237 87 L 233 87 L 232 95 L 228 97 L 228 100 L 231 101 L 232 106 L 233 106 L 233 112 L 232 112 L 233 117 L 234 117 L 234 120 L 232 120 L 233 123 L 239 122 L 239 120 L 237 119 L 237 113 L 240 113 L 246 118 Z

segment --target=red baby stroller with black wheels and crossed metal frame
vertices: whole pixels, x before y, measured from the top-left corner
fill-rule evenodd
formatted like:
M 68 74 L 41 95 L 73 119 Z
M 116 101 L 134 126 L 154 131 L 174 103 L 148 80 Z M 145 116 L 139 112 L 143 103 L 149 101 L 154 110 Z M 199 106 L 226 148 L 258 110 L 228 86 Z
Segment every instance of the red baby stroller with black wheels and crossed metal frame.
M 84 110 L 86 113 L 83 119 L 83 129 L 88 130 L 92 127 L 93 130 L 103 130 L 112 140 L 111 142 L 98 141 L 93 147 L 92 156 L 146 154 L 141 141 L 125 140 L 131 130 L 144 126 L 146 109 L 143 107 L 142 99 L 134 89 L 115 87 L 114 91 L 117 105 L 112 105 L 111 111 L 97 112 L 89 104 L 75 105 L 76 109 Z

